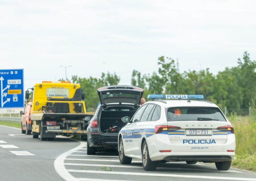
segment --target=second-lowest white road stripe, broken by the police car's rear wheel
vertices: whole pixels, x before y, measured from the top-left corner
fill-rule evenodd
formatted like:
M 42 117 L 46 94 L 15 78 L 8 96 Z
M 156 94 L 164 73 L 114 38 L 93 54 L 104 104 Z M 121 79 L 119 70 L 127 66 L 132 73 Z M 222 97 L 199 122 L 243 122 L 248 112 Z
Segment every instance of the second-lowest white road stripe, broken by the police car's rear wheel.
M 141 166 L 131 166 L 131 165 L 103 165 L 103 164 L 83 164 L 83 163 L 64 163 L 64 164 L 65 165 L 75 165 L 75 166 L 90 166 L 90 167 L 135 168 L 135 169 L 143 170 L 142 165 Z M 210 170 L 210 169 L 189 169 L 189 168 L 170 168 L 170 167 L 157 167 L 156 169 L 223 172 L 220 170 Z M 224 172 L 243 173 L 243 172 L 236 171 L 236 170 L 226 170 Z

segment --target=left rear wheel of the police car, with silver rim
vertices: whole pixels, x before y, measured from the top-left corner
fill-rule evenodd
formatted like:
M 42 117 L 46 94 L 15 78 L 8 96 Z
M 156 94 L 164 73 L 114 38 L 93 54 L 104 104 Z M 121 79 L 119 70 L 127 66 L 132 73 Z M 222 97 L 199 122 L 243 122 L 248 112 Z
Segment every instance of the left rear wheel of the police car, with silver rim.
M 154 171 L 157 167 L 157 162 L 151 161 L 148 153 L 148 144 L 144 141 L 142 146 L 142 165 L 146 171 Z

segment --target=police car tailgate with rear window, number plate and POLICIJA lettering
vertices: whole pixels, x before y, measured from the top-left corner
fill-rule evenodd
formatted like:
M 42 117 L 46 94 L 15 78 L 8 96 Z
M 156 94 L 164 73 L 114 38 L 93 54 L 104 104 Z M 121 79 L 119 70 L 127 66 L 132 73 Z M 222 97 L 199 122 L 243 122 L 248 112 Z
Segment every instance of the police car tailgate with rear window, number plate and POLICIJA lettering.
M 222 145 L 227 141 L 228 122 L 217 107 L 170 107 L 168 135 L 175 145 Z

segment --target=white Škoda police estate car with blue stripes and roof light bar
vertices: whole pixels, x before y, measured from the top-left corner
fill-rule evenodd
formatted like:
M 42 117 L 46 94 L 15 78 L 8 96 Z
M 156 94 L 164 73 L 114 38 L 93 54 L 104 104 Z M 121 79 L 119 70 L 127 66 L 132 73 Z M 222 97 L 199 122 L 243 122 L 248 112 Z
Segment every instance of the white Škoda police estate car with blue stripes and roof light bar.
M 132 118 L 122 118 L 127 124 L 118 134 L 121 164 L 138 158 L 148 171 L 156 170 L 158 162 L 176 161 L 215 163 L 218 170 L 230 168 L 235 132 L 217 105 L 202 100 L 203 95 L 148 95 L 148 99 L 153 100 Z

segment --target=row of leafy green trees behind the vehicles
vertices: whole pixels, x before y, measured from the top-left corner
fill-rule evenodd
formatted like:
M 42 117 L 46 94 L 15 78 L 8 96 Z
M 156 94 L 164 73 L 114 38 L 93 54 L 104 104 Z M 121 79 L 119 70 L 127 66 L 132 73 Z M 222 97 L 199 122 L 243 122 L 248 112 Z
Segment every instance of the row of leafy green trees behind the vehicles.
M 247 52 L 238 58 L 237 66 L 225 68 L 213 75 L 209 68 L 180 73 L 175 61 L 169 57 L 158 57 L 158 71 L 142 75 L 133 70 L 131 85 L 144 89 L 143 97 L 148 94 L 202 94 L 205 100 L 212 101 L 222 110 L 230 108 L 255 108 L 256 62 Z M 72 76 L 73 83 L 79 83 L 85 91 L 87 111 L 94 111 L 99 103 L 97 89 L 117 85 L 120 77 L 116 73 L 102 73 L 100 78 L 80 78 Z

